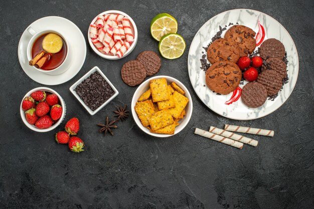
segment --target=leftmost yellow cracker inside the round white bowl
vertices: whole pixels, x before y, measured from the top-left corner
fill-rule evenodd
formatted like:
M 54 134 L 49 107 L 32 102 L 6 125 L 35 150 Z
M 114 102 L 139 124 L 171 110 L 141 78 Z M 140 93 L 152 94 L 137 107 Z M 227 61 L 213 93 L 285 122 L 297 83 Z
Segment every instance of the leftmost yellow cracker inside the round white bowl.
M 134 106 L 134 109 L 142 122 L 144 126 L 149 125 L 149 118 L 151 115 L 155 112 L 153 109 L 153 104 L 151 100 L 145 100 L 142 102 L 136 102 L 136 105 Z

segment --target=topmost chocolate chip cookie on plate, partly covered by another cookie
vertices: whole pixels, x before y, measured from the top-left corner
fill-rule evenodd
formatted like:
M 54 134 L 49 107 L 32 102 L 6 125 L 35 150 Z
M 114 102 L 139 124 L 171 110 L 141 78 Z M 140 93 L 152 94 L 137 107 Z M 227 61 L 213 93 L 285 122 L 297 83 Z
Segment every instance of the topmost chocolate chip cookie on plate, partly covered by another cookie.
M 225 39 L 227 40 L 234 40 L 236 43 L 239 44 L 240 47 L 240 57 L 247 56 L 248 54 L 252 53 L 256 47 L 256 40 L 255 40 L 255 32 L 251 28 L 244 26 L 244 25 L 233 25 L 230 27 L 226 34 Z

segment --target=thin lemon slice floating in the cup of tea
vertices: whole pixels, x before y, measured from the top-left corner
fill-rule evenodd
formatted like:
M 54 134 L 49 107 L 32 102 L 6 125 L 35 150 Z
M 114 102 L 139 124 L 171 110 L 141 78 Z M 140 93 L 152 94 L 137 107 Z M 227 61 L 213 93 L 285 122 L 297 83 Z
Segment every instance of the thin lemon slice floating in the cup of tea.
M 56 33 L 48 33 L 42 43 L 42 47 L 48 53 L 57 53 L 61 50 L 63 45 L 63 40 L 60 35 Z

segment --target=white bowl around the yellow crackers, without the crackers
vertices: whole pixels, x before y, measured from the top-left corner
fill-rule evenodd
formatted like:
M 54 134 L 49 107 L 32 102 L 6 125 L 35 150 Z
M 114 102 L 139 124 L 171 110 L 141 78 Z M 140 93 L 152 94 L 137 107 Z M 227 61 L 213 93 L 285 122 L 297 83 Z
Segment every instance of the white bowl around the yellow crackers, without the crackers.
M 182 82 L 180 82 L 176 78 L 173 78 L 173 77 L 170 77 L 167 75 L 158 75 L 158 76 L 150 77 L 149 79 L 145 80 L 142 84 L 140 84 L 137 87 L 137 89 L 134 92 L 134 95 L 132 97 L 132 102 L 131 102 L 131 109 L 132 109 L 133 118 L 134 118 L 137 126 L 142 131 L 144 131 L 145 133 L 147 133 L 149 135 L 156 136 L 156 137 L 169 137 L 169 136 L 173 136 L 175 134 L 162 134 L 162 133 L 150 132 L 148 130 L 148 128 L 146 128 L 145 126 L 142 125 L 142 123 L 141 123 L 140 119 L 138 118 L 137 113 L 134 109 L 134 106 L 135 106 L 139 96 L 149 88 L 149 81 L 151 79 L 158 79 L 158 78 L 162 78 L 162 77 L 165 77 L 167 79 L 168 84 L 170 84 L 171 82 L 177 83 L 177 85 L 185 91 L 184 95 L 189 98 L 189 102 L 188 102 L 187 106 L 185 107 L 186 115 L 180 120 L 180 124 L 175 129 L 175 134 L 177 134 L 181 130 L 183 130 L 183 128 L 189 123 L 189 121 L 191 119 L 192 110 L 193 110 L 193 102 L 192 102 L 192 97 L 191 97 L 189 90 L 186 88 L 186 86 L 184 84 L 182 84 Z

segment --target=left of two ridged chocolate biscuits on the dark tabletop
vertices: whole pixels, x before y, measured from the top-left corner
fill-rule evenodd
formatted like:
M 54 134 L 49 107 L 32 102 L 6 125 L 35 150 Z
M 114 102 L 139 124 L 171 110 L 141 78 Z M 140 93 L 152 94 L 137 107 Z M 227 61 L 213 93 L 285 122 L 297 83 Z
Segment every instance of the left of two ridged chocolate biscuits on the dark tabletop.
M 121 68 L 121 77 L 129 86 L 138 85 L 146 77 L 145 67 L 137 60 L 127 61 Z

